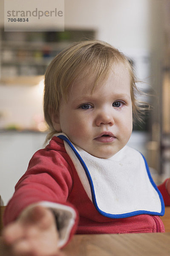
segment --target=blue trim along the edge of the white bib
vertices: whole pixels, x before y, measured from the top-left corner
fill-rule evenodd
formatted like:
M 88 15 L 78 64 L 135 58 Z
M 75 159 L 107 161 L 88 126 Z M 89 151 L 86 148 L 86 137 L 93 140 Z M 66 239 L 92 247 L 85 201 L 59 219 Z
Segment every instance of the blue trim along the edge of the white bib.
M 82 159 L 80 154 L 77 152 L 75 147 L 72 145 L 72 143 L 70 142 L 70 140 L 66 136 L 58 135 L 57 137 L 59 137 L 61 140 L 64 140 L 70 146 L 70 148 L 75 153 L 75 155 L 78 158 L 78 160 L 80 161 L 80 163 L 81 163 L 81 165 L 82 165 L 82 167 L 83 167 L 83 169 L 84 169 L 84 171 L 86 173 L 88 181 L 89 181 L 89 185 L 90 185 L 90 189 L 91 189 L 91 194 L 92 194 L 92 202 L 93 202 L 95 208 L 97 209 L 97 211 L 101 215 L 104 215 L 105 217 L 108 217 L 108 218 L 127 218 L 127 217 L 131 217 L 131 216 L 135 216 L 135 215 L 140 215 L 140 214 L 159 215 L 159 216 L 163 216 L 164 215 L 164 200 L 162 198 L 162 195 L 161 195 L 160 191 L 158 190 L 156 184 L 154 183 L 154 181 L 153 181 L 153 179 L 152 179 L 152 177 L 150 175 L 150 171 L 149 171 L 149 167 L 147 165 L 147 161 L 146 161 L 146 159 L 144 158 L 144 156 L 142 154 L 141 155 L 142 155 L 142 157 L 144 159 L 144 163 L 145 163 L 145 166 L 146 166 L 147 175 L 149 177 L 150 183 L 152 184 L 152 186 L 154 187 L 154 189 L 158 193 L 158 196 L 159 196 L 160 201 L 161 201 L 161 212 L 151 212 L 151 211 L 146 211 L 146 210 L 138 210 L 138 211 L 133 211 L 133 212 L 127 212 L 127 213 L 124 213 L 124 214 L 109 214 L 109 213 L 104 212 L 104 211 L 102 211 L 101 209 L 98 208 L 98 204 L 97 204 L 96 197 L 95 197 L 95 189 L 94 189 L 94 186 L 93 186 L 92 178 L 91 178 L 89 170 L 87 169 L 87 166 L 84 163 L 84 160 Z

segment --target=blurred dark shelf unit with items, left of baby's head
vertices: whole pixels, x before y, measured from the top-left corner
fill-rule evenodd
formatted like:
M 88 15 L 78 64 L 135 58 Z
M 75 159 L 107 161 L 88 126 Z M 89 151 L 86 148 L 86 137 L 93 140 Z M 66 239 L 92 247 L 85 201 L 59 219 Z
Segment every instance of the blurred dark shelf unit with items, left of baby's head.
M 4 32 L 0 35 L 1 79 L 16 76 L 39 76 L 65 47 L 73 41 L 94 39 L 95 31 Z

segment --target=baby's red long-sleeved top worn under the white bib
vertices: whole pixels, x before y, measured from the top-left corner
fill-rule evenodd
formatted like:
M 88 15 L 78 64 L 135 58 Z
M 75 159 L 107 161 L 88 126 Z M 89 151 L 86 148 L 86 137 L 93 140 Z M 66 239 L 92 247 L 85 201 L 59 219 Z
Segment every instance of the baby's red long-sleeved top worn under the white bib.
M 170 205 L 165 182 L 158 189 L 165 205 Z M 63 140 L 58 137 L 53 137 L 46 148 L 33 155 L 6 207 L 4 224 L 15 220 L 30 204 L 40 201 L 65 204 L 76 209 L 77 219 L 71 234 L 164 232 L 164 225 L 158 216 L 143 214 L 112 219 L 101 215 L 87 196 Z

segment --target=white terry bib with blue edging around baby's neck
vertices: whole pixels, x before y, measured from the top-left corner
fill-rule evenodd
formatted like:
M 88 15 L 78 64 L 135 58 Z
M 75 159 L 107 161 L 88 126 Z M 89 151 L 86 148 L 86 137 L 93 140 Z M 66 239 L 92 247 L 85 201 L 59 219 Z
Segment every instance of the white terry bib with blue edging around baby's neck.
M 102 215 L 109 218 L 164 215 L 161 193 L 138 151 L 126 145 L 114 156 L 103 159 L 73 145 L 65 134 L 57 136 L 64 140 L 87 195 Z

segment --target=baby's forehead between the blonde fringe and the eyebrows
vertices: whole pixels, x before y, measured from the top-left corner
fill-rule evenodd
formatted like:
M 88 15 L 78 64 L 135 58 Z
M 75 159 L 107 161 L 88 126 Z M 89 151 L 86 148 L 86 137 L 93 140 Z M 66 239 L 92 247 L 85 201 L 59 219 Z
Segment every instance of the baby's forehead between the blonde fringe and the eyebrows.
M 109 70 L 108 75 L 105 78 L 98 78 L 96 82 L 97 74 L 80 74 L 76 81 L 72 84 L 69 90 L 69 96 L 85 94 L 94 94 L 105 88 L 106 85 L 110 85 L 109 89 L 116 92 L 130 93 L 130 72 L 123 64 L 116 64 L 114 68 Z M 96 83 L 95 83 L 96 82 Z M 105 86 L 104 86 L 105 85 Z

